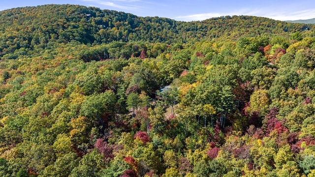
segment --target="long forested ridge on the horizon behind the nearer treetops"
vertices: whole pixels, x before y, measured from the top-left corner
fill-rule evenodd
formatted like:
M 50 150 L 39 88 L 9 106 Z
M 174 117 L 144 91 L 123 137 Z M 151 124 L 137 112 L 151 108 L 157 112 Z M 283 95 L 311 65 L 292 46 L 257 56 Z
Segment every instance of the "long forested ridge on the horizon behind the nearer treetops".
M 304 25 L 253 16 L 226 16 L 201 22 L 132 14 L 79 5 L 42 5 L 0 12 L 0 56 L 20 48 L 46 48 L 55 43 L 119 42 L 186 43 L 201 40 L 236 41 L 241 36 L 289 37 Z M 314 26 L 309 28 L 314 29 Z

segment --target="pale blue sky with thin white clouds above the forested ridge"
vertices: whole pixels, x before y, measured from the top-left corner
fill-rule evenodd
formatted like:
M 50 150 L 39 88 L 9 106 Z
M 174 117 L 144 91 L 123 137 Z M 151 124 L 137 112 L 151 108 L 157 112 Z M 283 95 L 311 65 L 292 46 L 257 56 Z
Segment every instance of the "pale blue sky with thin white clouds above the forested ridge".
M 43 4 L 80 4 L 180 21 L 226 15 L 253 15 L 275 20 L 315 18 L 315 0 L 1 0 L 0 10 Z

